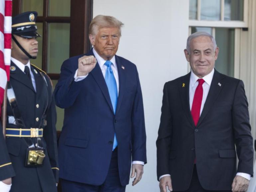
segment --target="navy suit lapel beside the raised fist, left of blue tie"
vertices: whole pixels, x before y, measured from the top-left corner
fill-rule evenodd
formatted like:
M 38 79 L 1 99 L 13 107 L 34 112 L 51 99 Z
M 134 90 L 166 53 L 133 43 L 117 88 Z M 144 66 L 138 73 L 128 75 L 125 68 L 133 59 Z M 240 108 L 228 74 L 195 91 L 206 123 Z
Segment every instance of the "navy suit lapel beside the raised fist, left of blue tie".
M 93 52 L 92 52 L 92 49 L 89 52 L 89 55 L 94 55 Z M 105 82 L 105 79 L 103 77 L 103 74 L 102 74 L 102 71 L 100 69 L 100 66 L 99 66 L 98 62 L 96 63 L 96 66 L 94 67 L 94 69 L 92 69 L 90 74 L 92 75 L 92 77 L 97 82 L 97 84 L 98 84 L 100 90 L 102 91 L 109 107 L 111 108 L 112 112 L 114 113 L 112 103 L 111 103 L 111 100 L 110 100 L 110 96 L 109 96 L 109 92 L 108 92 L 108 88 L 107 88 L 107 84 Z

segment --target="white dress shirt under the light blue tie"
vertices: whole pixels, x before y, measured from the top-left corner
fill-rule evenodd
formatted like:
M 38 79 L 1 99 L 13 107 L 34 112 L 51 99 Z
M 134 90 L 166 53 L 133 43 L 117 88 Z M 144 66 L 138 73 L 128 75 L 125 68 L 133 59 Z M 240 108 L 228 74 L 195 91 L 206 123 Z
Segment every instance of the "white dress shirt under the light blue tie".
M 107 66 L 104 65 L 104 63 L 106 62 L 105 59 L 103 59 L 96 51 L 95 49 L 93 48 L 92 49 L 93 51 L 93 54 L 100 66 L 100 69 L 101 69 L 101 72 L 103 74 L 103 77 L 105 78 L 105 74 L 106 74 L 106 70 L 107 70 Z M 118 70 L 117 70 L 117 65 L 116 65 L 116 58 L 115 56 L 113 56 L 110 61 L 112 62 L 112 65 L 111 65 L 111 69 L 113 71 L 113 74 L 114 74 L 114 77 L 115 77 L 115 80 L 116 80 L 116 86 L 117 86 L 117 95 L 119 95 L 119 78 L 118 78 Z M 75 71 L 75 74 L 74 74 L 74 81 L 81 81 L 83 79 L 85 79 L 87 75 L 84 75 L 84 76 L 79 76 L 77 77 L 77 71 L 78 69 L 76 69 Z M 118 141 L 117 141 L 118 142 Z M 141 164 L 141 165 L 144 165 L 144 162 L 143 161 L 132 161 L 132 164 Z

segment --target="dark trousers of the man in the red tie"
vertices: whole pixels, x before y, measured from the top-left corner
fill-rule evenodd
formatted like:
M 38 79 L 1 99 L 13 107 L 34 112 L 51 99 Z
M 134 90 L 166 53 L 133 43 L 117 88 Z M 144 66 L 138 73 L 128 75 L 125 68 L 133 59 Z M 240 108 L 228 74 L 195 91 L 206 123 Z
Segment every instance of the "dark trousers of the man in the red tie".
M 230 184 L 231 186 L 231 184 Z M 175 192 L 175 191 L 173 191 Z M 197 171 L 196 171 L 196 164 L 194 164 L 194 168 L 193 168 L 193 174 L 192 174 L 192 179 L 191 179 L 191 183 L 189 186 L 189 189 L 186 191 L 180 191 L 180 192 L 232 192 L 230 191 L 209 191 L 209 190 L 205 190 L 202 188 L 200 181 L 198 179 L 198 175 L 197 175 Z

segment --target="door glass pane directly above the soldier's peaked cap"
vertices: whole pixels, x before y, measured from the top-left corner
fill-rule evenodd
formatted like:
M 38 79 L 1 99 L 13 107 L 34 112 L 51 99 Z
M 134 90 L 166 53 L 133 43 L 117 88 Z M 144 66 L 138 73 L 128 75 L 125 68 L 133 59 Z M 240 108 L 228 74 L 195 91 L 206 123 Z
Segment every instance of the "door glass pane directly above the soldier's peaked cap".
M 36 11 L 38 16 L 43 16 L 44 0 L 23 0 L 22 13 L 26 11 Z

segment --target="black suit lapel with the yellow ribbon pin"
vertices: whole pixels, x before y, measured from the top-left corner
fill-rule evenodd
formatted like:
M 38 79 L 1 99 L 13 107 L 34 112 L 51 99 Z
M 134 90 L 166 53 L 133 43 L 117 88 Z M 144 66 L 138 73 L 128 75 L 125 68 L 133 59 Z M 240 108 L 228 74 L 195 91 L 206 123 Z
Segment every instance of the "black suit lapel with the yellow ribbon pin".
M 189 103 L 189 85 L 190 85 L 190 74 L 188 73 L 187 75 L 183 76 L 179 89 L 180 89 L 180 96 L 181 96 L 181 102 L 182 102 L 182 106 L 183 106 L 183 110 L 185 112 L 186 117 L 188 118 L 190 124 L 192 125 L 192 127 L 194 128 L 194 121 L 191 115 L 191 111 L 190 111 L 190 103 Z

